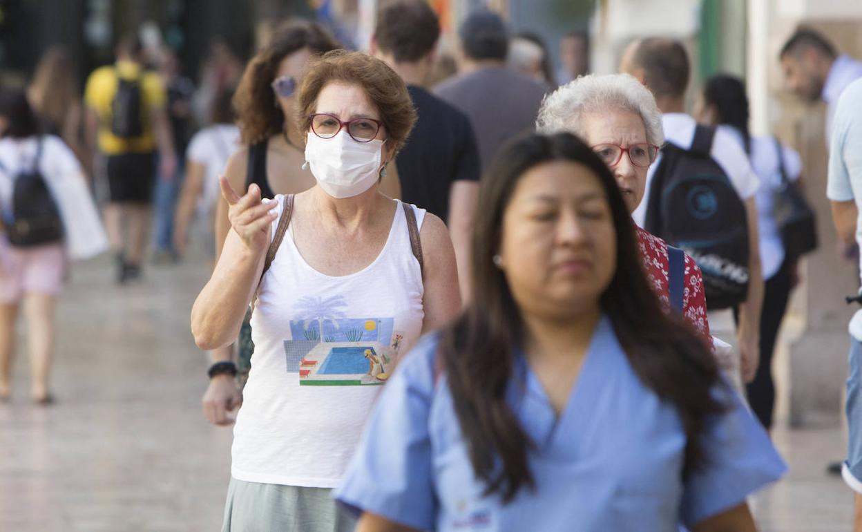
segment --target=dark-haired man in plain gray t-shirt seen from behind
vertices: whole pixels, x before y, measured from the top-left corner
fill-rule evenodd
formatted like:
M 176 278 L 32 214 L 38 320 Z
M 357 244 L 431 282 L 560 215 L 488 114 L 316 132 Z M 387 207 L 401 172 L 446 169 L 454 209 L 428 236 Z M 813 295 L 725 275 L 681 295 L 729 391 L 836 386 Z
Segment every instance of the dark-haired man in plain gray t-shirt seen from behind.
M 482 10 L 467 16 L 459 36 L 463 71 L 434 92 L 470 118 L 484 169 L 503 143 L 535 128 L 547 88 L 506 67 L 509 34 L 496 13 Z

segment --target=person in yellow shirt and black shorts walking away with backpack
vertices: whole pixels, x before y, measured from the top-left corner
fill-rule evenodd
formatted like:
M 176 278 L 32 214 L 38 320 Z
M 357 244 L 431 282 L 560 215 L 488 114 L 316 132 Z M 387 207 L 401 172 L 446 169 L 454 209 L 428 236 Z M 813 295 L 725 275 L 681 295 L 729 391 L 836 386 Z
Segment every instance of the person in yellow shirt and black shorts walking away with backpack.
M 159 74 L 141 64 L 143 47 L 134 34 L 116 47 L 116 64 L 92 72 L 84 90 L 87 139 L 104 159 L 109 203 L 105 227 L 117 255 L 117 280 L 123 284 L 141 274 L 147 248 L 150 203 L 156 176 L 172 178 L 176 167 L 166 90 Z M 128 224 L 128 242 L 123 226 Z

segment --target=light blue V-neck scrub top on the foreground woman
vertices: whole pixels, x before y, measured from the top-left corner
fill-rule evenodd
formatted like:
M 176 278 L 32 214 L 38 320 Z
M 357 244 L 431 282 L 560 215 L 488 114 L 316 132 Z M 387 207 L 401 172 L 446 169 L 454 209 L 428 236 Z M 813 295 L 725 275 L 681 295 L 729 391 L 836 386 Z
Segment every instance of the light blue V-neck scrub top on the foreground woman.
M 728 385 L 729 410 L 710 420 L 709 459 L 682 480 L 685 434 L 677 411 L 635 375 L 607 317 L 599 322 L 559 418 L 519 358 L 509 405 L 534 441 L 536 488 L 509 504 L 473 475 L 437 338 L 402 361 L 378 397 L 365 435 L 335 492 L 341 504 L 441 532 L 677 532 L 743 503 L 778 479 L 784 462 Z

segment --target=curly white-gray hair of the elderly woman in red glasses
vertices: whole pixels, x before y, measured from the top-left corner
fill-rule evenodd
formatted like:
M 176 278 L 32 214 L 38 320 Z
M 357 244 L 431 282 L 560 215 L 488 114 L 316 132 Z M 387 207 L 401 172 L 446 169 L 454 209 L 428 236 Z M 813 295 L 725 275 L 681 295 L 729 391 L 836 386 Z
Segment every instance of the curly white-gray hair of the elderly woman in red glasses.
M 653 93 L 628 74 L 581 76 L 553 91 L 541 104 L 536 131 L 548 135 L 568 131 L 584 137 L 585 113 L 627 110 L 640 116 L 647 142 L 661 146 L 665 130 Z

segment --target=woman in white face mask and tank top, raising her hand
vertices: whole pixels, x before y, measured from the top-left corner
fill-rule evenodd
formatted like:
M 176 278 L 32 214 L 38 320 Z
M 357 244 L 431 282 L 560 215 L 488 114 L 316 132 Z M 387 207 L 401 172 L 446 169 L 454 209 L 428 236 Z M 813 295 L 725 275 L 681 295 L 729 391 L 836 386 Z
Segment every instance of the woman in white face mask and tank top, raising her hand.
M 399 355 L 460 306 L 443 222 L 378 191 L 415 121 L 401 78 L 332 52 L 297 103 L 316 185 L 265 203 L 222 180 L 232 228 L 191 315 L 197 344 L 214 348 L 253 304 L 225 530 L 352 530 L 329 491 Z

